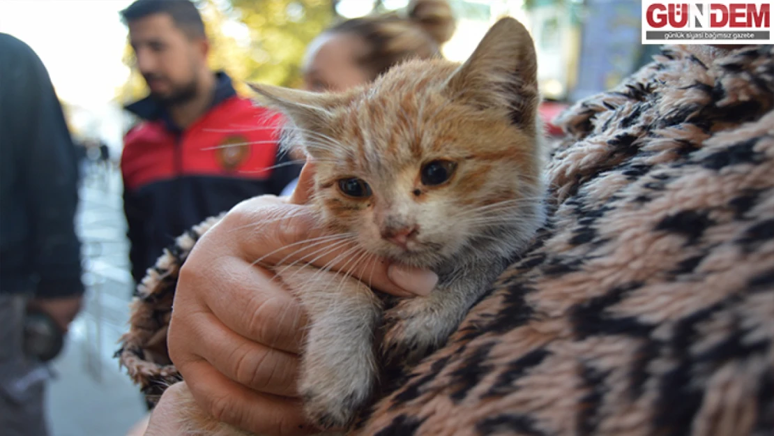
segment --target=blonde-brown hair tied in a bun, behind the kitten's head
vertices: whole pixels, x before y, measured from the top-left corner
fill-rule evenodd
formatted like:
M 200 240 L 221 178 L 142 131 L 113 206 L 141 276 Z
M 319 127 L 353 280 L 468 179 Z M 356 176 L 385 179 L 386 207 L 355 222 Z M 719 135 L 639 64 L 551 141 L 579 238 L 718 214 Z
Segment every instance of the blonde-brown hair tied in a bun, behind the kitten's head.
M 446 0 L 411 0 L 402 13 L 348 19 L 326 33 L 348 33 L 368 46 L 358 59 L 372 79 L 409 59 L 440 57 L 440 46 L 454 34 L 456 23 Z

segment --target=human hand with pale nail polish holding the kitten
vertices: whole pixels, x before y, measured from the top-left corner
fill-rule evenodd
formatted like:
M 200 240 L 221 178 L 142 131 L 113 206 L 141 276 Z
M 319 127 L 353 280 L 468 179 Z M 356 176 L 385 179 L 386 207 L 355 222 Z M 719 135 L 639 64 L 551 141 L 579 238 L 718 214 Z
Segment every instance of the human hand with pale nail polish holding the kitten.
M 180 269 L 168 343 L 170 357 L 202 410 L 259 434 L 316 431 L 304 420 L 296 381 L 307 319 L 299 302 L 256 266 L 331 264 L 400 297 L 428 294 L 437 276 L 377 262 L 347 268 L 348 246 L 321 244 L 308 206 L 313 167 L 290 201 L 256 197 L 238 204 L 197 242 Z M 330 248 L 325 256 L 307 256 Z M 306 250 L 305 250 L 306 249 Z

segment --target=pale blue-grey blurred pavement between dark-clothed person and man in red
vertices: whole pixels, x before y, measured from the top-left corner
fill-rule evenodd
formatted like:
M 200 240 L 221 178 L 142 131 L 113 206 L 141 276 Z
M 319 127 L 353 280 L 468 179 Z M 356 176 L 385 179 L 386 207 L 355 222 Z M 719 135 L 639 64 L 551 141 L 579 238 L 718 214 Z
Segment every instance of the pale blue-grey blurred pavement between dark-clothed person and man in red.
M 113 358 L 127 329 L 132 280 L 115 167 L 91 169 L 76 228 L 84 245 L 84 311 L 53 362 L 47 410 L 51 436 L 125 436 L 145 414 L 139 393 Z

